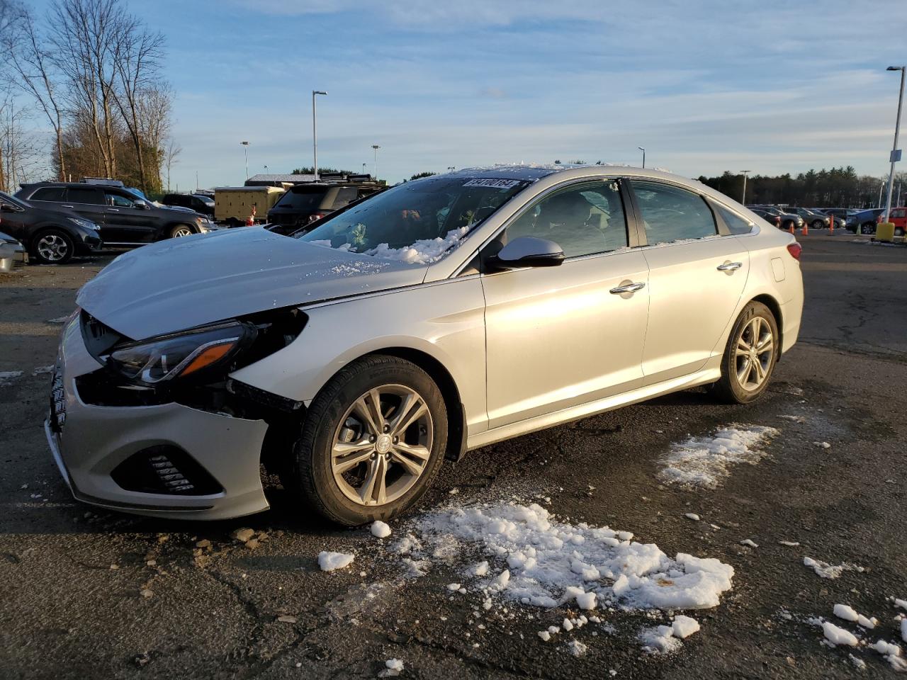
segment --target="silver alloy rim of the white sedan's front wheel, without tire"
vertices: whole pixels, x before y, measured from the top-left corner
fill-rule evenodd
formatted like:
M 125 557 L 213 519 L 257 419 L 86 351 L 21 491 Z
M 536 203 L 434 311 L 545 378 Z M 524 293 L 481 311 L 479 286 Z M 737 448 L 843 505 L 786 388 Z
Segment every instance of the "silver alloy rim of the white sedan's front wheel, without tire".
M 375 387 L 349 406 L 334 433 L 334 481 L 359 505 L 397 500 L 425 471 L 433 437 L 422 395 L 402 384 Z

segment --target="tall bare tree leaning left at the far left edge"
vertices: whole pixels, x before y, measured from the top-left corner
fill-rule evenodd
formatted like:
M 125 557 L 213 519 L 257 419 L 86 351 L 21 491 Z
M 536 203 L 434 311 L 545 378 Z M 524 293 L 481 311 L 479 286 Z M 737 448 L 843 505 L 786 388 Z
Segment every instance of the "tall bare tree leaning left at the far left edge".
M 6 56 L 5 63 L 12 75 L 10 83 L 34 100 L 54 128 L 56 166 L 63 180 L 66 177 L 66 162 L 63 158 L 63 105 L 56 84 L 59 73 L 55 72 L 48 43 L 44 36 L 38 34 L 35 25 L 34 16 L 28 8 L 20 5 L 9 30 L 0 32 L 0 41 Z

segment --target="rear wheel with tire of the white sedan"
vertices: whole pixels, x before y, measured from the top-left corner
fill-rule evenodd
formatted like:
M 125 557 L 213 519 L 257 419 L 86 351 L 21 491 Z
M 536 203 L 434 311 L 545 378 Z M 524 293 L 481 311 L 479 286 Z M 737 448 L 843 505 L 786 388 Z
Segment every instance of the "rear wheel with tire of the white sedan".
M 770 345 L 766 350 L 756 353 L 756 364 L 753 364 L 753 355 L 738 355 L 737 347 L 752 345 L 754 328 L 759 329 L 759 336 L 763 339 L 761 346 L 766 346 L 766 334 L 771 333 Z M 734 327 L 727 338 L 725 354 L 721 357 L 721 379 L 714 385 L 713 393 L 727 403 L 750 403 L 755 401 L 763 392 L 772 378 L 775 370 L 778 352 L 778 325 L 775 315 L 761 302 L 751 302 L 737 317 Z M 746 368 L 746 365 L 749 368 Z M 759 374 L 761 373 L 761 379 Z M 741 374 L 742 377 L 741 377 Z M 751 378 L 755 378 L 752 380 Z

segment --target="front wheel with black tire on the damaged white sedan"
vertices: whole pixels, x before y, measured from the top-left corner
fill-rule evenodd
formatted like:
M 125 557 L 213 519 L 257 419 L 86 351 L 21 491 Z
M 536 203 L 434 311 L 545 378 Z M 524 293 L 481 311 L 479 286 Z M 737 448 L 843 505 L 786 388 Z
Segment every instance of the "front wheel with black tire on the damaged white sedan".
M 395 431 L 391 424 L 397 418 L 411 423 L 400 423 L 403 429 Z M 335 446 L 350 452 L 335 456 Z M 434 380 L 405 359 L 366 356 L 343 368 L 313 400 L 286 466 L 284 487 L 336 524 L 389 520 L 423 497 L 441 469 L 446 446 L 447 410 Z

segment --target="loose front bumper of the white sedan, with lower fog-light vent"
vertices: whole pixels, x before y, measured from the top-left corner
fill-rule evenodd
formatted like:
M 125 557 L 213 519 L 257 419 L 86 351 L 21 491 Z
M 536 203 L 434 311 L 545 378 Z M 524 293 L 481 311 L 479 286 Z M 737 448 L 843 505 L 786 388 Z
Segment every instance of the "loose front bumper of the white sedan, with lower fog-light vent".
M 74 316 L 63 330 L 44 432 L 77 500 L 204 520 L 268 509 L 259 472 L 267 423 L 180 403 L 84 403 L 76 378 L 100 367 Z

